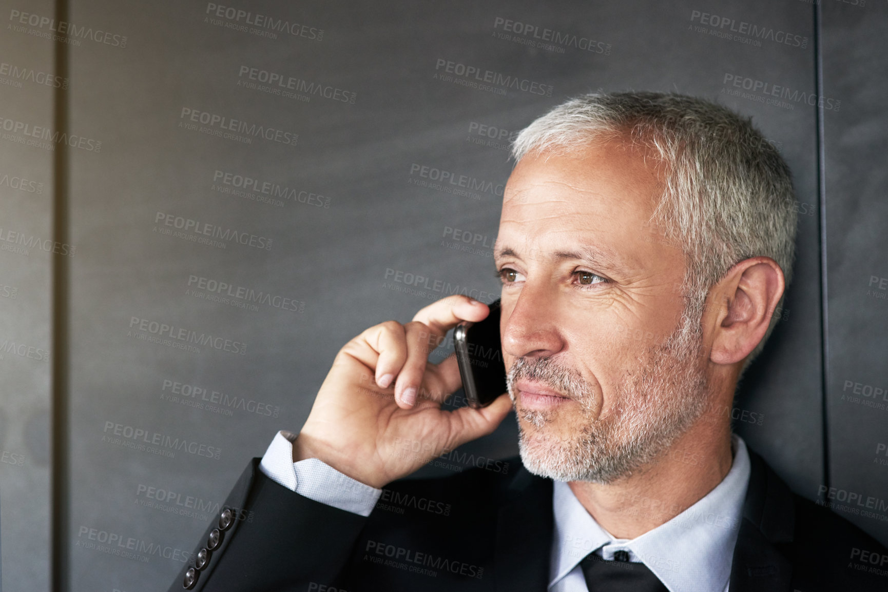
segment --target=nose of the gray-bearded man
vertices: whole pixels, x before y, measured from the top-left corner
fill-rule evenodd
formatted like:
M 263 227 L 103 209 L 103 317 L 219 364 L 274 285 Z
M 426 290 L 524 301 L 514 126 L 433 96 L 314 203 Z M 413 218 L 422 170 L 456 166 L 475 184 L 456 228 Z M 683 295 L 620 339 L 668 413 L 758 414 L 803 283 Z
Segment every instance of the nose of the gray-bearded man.
M 503 326 L 503 353 L 521 357 L 551 356 L 564 348 L 555 320 L 558 296 L 555 290 L 526 284 L 521 288 Z M 508 306 L 508 303 L 504 303 Z

